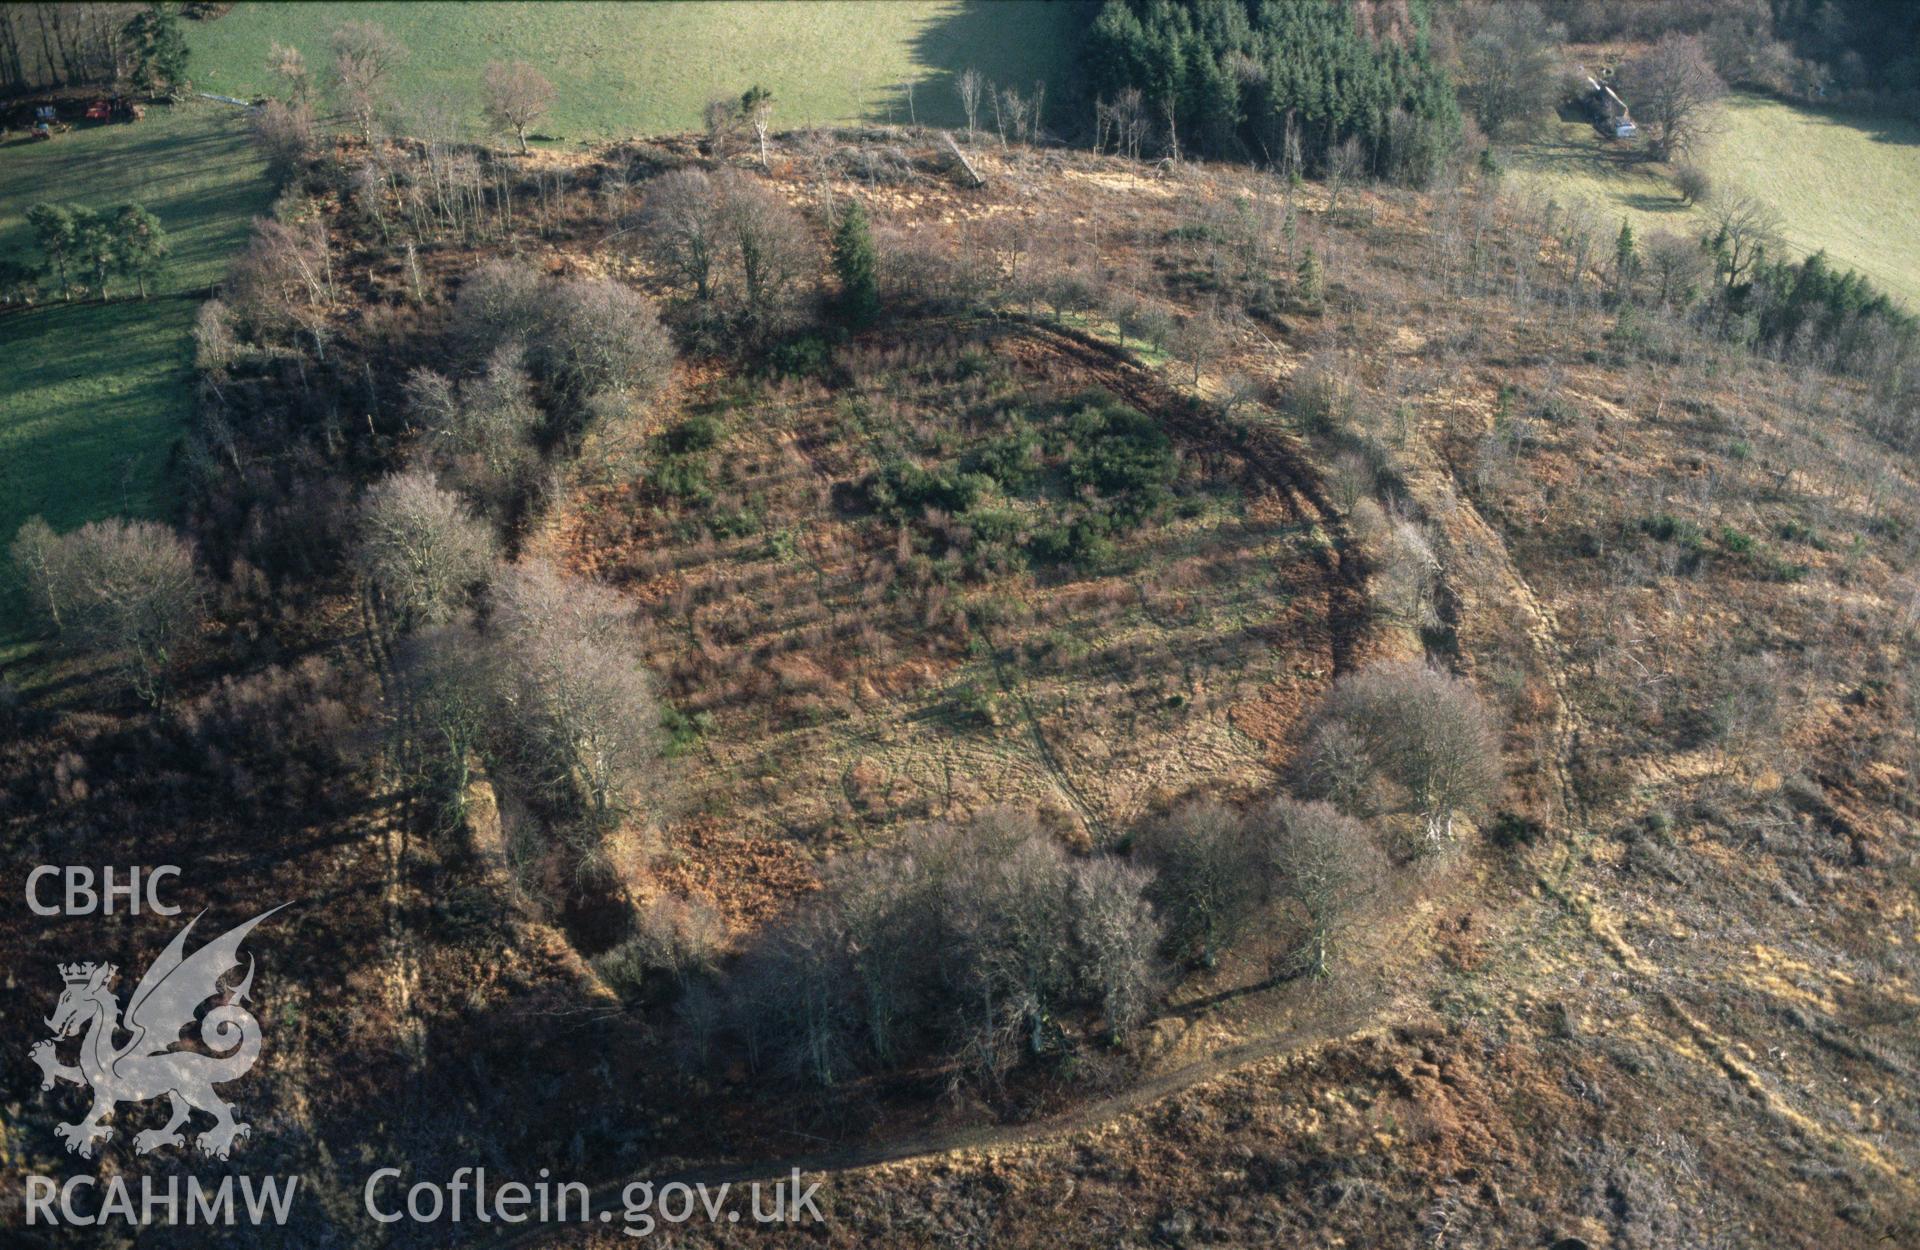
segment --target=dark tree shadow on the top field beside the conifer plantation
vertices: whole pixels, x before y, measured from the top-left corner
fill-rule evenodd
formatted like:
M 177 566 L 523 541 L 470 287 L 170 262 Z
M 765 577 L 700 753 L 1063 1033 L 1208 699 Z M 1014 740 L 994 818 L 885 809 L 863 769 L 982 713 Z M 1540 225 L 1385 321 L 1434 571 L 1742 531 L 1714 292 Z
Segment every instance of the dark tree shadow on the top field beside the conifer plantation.
M 958 79 L 977 69 L 989 83 L 1031 96 L 1046 84 L 1046 127 L 1066 129 L 1069 102 L 1085 94 L 1081 46 L 1100 6 L 1094 0 L 956 0 L 912 38 L 918 77 L 887 92 L 868 121 L 964 127 Z M 993 106 L 981 102 L 981 125 Z

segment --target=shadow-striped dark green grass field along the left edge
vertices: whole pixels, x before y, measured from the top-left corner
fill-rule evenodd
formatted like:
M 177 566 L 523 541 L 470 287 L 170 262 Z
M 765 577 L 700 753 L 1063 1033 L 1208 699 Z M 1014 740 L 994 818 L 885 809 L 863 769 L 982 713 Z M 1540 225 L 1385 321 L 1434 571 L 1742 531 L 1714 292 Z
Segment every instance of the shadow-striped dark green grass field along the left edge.
M 148 301 L 48 303 L 0 315 L 0 547 L 35 513 L 67 530 L 108 515 L 163 515 L 167 451 L 190 403 L 190 338 L 204 288 L 267 211 L 267 179 L 240 109 L 157 108 L 134 125 L 75 127 L 0 146 L 0 255 L 36 261 L 25 213 L 40 200 L 146 204 L 173 240 Z M 0 561 L 4 566 L 6 561 Z M 21 637 L 0 572 L 0 655 Z

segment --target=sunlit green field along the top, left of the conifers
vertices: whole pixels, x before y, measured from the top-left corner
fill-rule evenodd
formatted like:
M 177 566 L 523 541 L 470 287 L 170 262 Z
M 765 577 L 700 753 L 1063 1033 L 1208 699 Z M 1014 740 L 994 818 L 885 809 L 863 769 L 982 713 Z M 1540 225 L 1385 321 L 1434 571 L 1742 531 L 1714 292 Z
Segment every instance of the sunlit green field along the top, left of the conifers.
M 908 121 L 954 125 L 952 75 L 968 65 L 1023 92 L 1044 79 L 1064 100 L 1091 8 L 1071 2 L 856 0 L 841 4 L 238 4 L 186 23 L 204 90 L 273 88 L 267 46 L 292 44 L 319 75 L 326 35 L 382 23 L 411 56 L 396 96 L 444 96 L 478 121 L 488 61 L 526 60 L 557 90 L 541 132 L 566 142 L 687 131 L 716 96 L 774 92 L 776 125 Z

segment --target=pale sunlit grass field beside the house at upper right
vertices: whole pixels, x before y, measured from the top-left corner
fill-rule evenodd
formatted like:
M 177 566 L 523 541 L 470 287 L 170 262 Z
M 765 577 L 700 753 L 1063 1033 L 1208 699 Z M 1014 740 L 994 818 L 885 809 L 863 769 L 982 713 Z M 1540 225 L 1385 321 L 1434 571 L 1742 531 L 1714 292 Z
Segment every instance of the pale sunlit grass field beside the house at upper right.
M 1507 157 L 1517 184 L 1561 202 L 1588 200 L 1609 223 L 1630 219 L 1642 236 L 1699 230 L 1703 215 L 1682 204 L 1665 169 L 1622 159 L 1628 152 L 1567 121 Z M 1718 190 L 1770 204 L 1795 252 L 1826 248 L 1920 309 L 1920 127 L 1738 94 L 1701 163 Z

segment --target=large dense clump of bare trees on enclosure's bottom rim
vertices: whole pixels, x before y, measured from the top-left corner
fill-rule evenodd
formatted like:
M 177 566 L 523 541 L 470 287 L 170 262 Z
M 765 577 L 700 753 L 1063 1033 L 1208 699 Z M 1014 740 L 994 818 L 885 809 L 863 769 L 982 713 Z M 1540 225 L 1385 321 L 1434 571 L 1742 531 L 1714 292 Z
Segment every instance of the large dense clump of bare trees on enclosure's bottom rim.
M 998 1081 L 1058 1043 L 1069 1008 L 1098 1008 L 1114 1035 L 1140 1020 L 1160 941 L 1142 887 L 1117 860 L 1069 858 L 1027 812 L 914 829 L 839 864 L 749 950 L 735 1031 L 753 1062 L 820 1085 L 914 1037 Z

